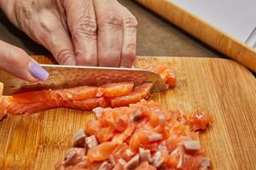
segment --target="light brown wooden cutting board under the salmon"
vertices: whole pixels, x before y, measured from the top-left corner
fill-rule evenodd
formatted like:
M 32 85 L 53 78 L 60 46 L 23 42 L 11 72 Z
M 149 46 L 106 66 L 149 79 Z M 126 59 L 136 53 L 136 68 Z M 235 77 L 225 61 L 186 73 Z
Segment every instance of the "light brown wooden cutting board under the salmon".
M 255 77 L 227 59 L 140 57 L 137 65 L 160 63 L 177 71 L 177 88 L 150 99 L 169 109 L 212 114 L 201 143 L 214 169 L 256 169 Z M 54 169 L 71 147 L 73 133 L 92 116 L 69 109 L 9 116 L 0 122 L 0 169 Z

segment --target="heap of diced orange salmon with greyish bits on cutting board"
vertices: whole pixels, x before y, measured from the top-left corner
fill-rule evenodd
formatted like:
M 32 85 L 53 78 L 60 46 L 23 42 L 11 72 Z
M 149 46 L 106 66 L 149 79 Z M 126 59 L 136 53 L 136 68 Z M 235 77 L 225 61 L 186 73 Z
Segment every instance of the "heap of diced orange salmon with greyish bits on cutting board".
M 211 169 L 198 130 L 204 130 L 212 116 L 201 111 L 186 116 L 146 100 L 94 111 L 96 118 L 74 134 L 72 159 L 68 153 L 56 170 Z M 79 154 L 76 150 L 86 151 Z

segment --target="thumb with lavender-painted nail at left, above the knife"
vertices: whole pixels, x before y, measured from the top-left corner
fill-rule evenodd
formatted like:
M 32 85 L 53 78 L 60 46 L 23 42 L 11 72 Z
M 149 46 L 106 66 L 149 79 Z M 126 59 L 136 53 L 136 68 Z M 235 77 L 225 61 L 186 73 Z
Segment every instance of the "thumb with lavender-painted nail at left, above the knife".
M 45 81 L 49 73 L 25 51 L 0 41 L 0 70 L 29 82 Z

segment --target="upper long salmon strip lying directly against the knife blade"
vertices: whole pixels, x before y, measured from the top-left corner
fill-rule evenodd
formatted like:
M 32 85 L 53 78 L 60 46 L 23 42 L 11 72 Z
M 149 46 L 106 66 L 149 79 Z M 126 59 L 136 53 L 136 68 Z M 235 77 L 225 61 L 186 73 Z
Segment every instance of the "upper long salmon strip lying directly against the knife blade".
M 41 90 L 15 94 L 13 99 L 20 104 L 35 103 L 47 100 L 82 100 L 100 97 L 119 97 L 130 94 L 133 89 L 133 82 L 108 83 L 102 87 L 81 86 L 61 90 Z

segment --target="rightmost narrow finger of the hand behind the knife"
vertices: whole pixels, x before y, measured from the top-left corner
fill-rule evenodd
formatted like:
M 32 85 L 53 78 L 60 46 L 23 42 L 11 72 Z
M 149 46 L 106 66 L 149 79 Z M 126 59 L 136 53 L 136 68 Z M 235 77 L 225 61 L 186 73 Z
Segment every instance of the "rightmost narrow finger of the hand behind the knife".
M 131 12 L 122 7 L 123 11 L 123 48 L 121 53 L 120 67 L 131 67 L 136 61 L 137 47 L 137 20 Z

